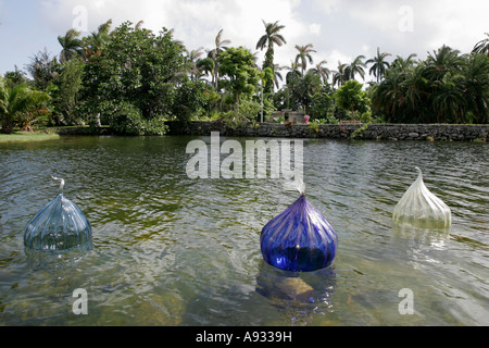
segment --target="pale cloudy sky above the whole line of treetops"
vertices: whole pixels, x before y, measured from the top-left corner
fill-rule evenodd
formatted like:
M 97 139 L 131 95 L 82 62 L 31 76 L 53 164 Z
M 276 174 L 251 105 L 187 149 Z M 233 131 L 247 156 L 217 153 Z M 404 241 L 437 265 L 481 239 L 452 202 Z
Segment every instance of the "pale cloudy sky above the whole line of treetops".
M 189 51 L 214 48 L 223 29 L 230 46 L 258 52 L 260 65 L 263 21 L 278 21 L 287 44 L 275 47 L 275 63 L 290 66 L 296 46 L 312 44 L 312 65 L 327 61 L 336 70 L 377 48 L 390 61 L 411 53 L 424 60 L 442 45 L 468 53 L 489 33 L 488 13 L 487 0 L 0 0 L 0 74 L 25 71 L 45 49 L 58 55 L 58 36 L 71 28 L 85 36 L 110 18 L 112 28 L 143 21 L 156 34 L 173 29 Z

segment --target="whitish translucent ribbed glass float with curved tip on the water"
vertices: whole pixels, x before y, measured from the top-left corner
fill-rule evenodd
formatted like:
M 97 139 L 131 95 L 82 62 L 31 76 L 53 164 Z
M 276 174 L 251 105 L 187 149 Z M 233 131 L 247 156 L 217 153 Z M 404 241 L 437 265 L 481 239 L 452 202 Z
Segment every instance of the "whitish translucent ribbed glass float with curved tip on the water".
M 398 225 L 410 225 L 422 228 L 447 228 L 452 224 L 450 208 L 431 194 L 423 181 L 422 171 L 417 179 L 402 196 L 394 207 L 392 220 Z

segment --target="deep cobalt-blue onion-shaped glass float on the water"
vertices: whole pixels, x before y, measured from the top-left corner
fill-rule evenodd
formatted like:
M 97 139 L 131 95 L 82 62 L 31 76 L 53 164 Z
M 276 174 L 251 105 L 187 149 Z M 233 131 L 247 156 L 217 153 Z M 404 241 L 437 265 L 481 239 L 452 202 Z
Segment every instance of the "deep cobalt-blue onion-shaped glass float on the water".
M 311 272 L 333 263 L 338 237 L 329 222 L 301 197 L 268 222 L 260 237 L 265 261 L 281 270 Z

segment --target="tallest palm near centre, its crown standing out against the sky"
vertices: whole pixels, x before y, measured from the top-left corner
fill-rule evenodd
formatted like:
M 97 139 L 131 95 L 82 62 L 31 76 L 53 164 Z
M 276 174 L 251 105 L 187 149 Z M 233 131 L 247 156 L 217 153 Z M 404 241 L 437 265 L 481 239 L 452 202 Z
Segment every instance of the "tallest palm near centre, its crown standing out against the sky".
M 266 23 L 263 21 L 263 25 L 265 26 L 265 34 L 260 38 L 256 44 L 256 49 L 263 51 L 266 47 L 265 60 L 263 62 L 263 70 L 269 67 L 273 72 L 275 71 L 274 64 L 274 45 L 283 46 L 287 44 L 286 39 L 279 32 L 285 28 L 284 25 L 278 25 L 278 21 L 275 23 Z M 267 79 L 265 83 L 265 94 L 271 94 L 274 90 L 274 80 Z

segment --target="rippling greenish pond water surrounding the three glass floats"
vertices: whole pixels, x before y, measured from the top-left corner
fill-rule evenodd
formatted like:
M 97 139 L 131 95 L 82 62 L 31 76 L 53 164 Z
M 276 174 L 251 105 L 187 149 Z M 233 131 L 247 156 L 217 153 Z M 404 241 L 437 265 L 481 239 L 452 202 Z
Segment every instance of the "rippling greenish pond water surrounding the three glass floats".
M 0 325 L 489 325 L 486 144 L 304 139 L 308 199 L 339 246 L 331 266 L 292 273 L 264 263 L 260 233 L 299 194 L 283 178 L 189 178 L 192 139 L 210 142 L 0 145 Z M 450 229 L 393 226 L 415 166 L 452 209 Z M 90 221 L 91 250 L 25 249 L 51 175 Z

